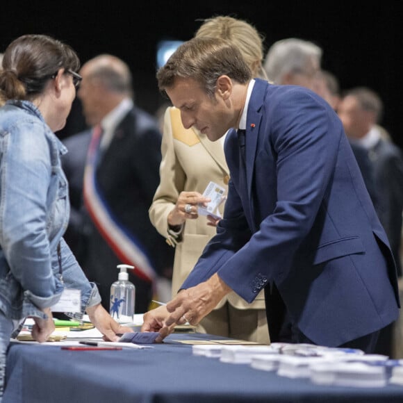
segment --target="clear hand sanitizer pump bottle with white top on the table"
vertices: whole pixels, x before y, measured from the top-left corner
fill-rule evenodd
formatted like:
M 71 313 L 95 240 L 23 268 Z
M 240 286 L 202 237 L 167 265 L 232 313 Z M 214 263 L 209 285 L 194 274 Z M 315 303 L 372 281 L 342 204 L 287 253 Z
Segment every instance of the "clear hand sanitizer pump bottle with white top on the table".
M 117 265 L 120 269 L 117 281 L 110 286 L 110 316 L 119 323 L 133 323 L 135 287 L 129 281 L 127 269 L 131 265 Z

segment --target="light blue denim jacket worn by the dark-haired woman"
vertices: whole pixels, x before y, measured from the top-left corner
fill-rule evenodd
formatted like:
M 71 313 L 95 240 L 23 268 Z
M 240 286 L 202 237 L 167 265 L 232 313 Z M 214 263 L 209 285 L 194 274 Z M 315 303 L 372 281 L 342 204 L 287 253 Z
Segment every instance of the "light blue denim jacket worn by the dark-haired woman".
M 81 290 L 74 318 L 101 301 L 62 238 L 69 219 L 65 152 L 31 102 L 0 108 L 0 310 L 8 318 L 44 317 L 40 309 L 58 302 L 63 287 Z

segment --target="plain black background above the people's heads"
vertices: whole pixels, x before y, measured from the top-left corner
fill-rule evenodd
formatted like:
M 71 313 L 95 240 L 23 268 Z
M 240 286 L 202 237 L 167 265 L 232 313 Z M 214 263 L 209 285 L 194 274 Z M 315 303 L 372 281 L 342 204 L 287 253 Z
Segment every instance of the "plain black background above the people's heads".
M 77 51 L 81 63 L 101 53 L 114 54 L 131 67 L 135 101 L 156 113 L 164 99 L 156 87 L 156 45 L 162 39 L 188 40 L 201 20 L 231 15 L 254 24 L 274 41 L 295 37 L 322 47 L 322 67 L 340 88 L 365 85 L 384 101 L 382 124 L 403 146 L 400 102 L 401 2 L 377 1 L 10 1 L 0 6 L 0 51 L 26 33 L 44 33 Z M 74 102 L 64 137 L 83 126 Z M 402 138 L 401 138 L 402 137 Z

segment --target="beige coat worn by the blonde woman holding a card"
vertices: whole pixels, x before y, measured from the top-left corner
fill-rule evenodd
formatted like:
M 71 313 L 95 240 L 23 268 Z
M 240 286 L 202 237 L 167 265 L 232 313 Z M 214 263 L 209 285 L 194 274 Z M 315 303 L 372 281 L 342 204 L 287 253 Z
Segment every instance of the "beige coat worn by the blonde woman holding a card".
M 199 131 L 185 129 L 181 123 L 180 111 L 176 108 L 167 108 L 165 112 L 162 154 L 161 181 L 149 208 L 149 217 L 157 231 L 169 240 L 171 236 L 167 232 L 167 217 L 174 208 L 179 193 L 183 190 L 203 193 L 210 181 L 227 190 L 229 170 L 222 139 L 211 142 Z M 183 241 L 176 245 L 172 296 L 176 295 L 208 240 L 214 235 L 215 227 L 207 225 L 206 217 L 186 220 Z M 216 308 L 221 307 L 226 300 L 237 309 L 265 309 L 263 291 L 252 304 L 245 302 L 236 293 L 230 293 Z

